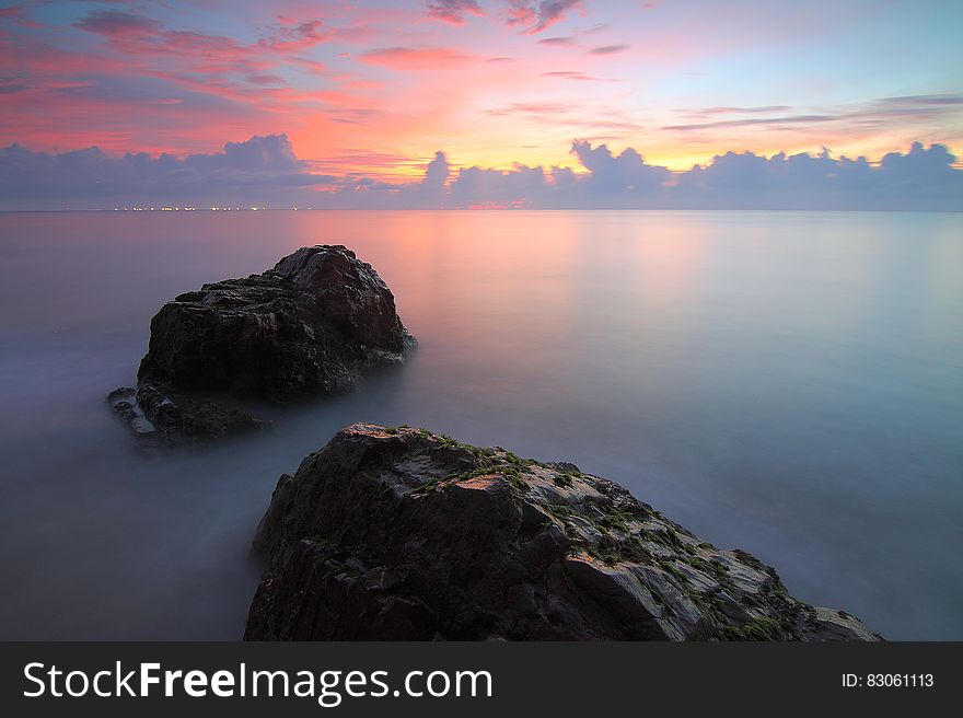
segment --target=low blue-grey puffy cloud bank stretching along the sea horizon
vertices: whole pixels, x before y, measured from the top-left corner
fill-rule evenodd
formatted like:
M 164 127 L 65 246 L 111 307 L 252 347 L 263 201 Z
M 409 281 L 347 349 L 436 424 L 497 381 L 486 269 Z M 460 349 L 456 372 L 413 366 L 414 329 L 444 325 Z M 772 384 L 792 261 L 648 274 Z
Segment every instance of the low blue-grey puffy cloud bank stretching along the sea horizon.
M 727 152 L 685 172 L 635 149 L 576 140 L 578 169 L 515 164 L 455 170 L 444 152 L 410 182 L 321 174 L 285 135 L 228 142 L 223 151 L 109 157 L 97 148 L 0 149 L 0 209 L 103 209 L 179 204 L 316 208 L 855 209 L 963 211 L 963 171 L 943 144 L 866 158 Z

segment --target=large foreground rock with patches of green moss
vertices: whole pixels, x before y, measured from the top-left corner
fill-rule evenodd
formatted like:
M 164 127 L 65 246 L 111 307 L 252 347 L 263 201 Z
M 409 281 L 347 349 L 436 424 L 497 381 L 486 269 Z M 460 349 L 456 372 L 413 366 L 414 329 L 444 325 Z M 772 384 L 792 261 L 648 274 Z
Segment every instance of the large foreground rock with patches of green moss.
M 353 425 L 281 476 L 250 640 L 878 640 L 613 482 Z

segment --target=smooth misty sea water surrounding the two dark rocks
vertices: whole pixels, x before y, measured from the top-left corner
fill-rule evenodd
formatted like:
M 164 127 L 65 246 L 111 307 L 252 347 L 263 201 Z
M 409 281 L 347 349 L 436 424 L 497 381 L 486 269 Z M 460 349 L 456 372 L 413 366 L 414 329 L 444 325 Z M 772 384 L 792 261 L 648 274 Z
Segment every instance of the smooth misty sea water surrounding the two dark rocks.
M 269 437 L 137 455 L 174 294 L 340 242 L 420 348 Z M 0 638 L 235 639 L 281 472 L 356 421 L 608 476 L 802 599 L 963 638 L 963 215 L 0 215 Z

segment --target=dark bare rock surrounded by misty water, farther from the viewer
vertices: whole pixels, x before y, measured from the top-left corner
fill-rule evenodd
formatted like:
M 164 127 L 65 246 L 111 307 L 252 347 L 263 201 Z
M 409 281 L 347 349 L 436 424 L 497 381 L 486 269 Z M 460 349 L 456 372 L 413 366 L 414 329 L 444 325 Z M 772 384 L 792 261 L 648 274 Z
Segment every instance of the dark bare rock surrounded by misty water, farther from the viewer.
M 371 265 L 340 245 L 301 247 L 264 274 L 164 304 L 136 394 L 121 389 L 108 402 L 143 441 L 208 440 L 267 426 L 232 399 L 343 391 L 413 343 Z

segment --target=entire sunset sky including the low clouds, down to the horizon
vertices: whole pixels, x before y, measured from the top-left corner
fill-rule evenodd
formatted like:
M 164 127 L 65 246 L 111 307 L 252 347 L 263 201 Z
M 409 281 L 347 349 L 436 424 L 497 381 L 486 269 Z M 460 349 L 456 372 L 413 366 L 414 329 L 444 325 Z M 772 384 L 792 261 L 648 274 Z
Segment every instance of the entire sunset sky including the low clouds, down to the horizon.
M 956 0 L 0 4 L 0 208 L 959 209 L 960 27 Z

